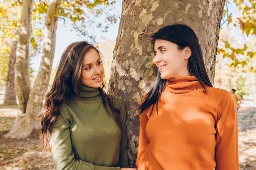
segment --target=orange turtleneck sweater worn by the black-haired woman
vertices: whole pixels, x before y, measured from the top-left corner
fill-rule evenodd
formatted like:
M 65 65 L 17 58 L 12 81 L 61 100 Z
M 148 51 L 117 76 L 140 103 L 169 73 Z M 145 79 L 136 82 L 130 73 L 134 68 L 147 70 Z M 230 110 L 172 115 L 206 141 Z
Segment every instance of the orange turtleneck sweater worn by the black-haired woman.
M 236 170 L 238 118 L 232 95 L 194 76 L 168 79 L 158 102 L 140 114 L 137 169 Z

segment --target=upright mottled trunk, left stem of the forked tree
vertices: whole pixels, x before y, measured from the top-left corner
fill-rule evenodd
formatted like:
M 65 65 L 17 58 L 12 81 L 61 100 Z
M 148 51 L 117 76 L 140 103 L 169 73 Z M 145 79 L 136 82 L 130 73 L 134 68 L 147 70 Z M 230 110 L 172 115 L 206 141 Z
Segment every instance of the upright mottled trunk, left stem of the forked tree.
M 29 45 L 31 38 L 31 20 L 33 10 L 33 0 L 22 2 L 22 12 L 20 20 L 20 32 L 17 45 L 17 56 L 15 63 L 15 87 L 19 99 L 18 115 L 15 119 L 12 130 L 4 135 L 12 137 L 12 131 L 19 129 L 19 120 L 25 115 L 29 92 L 31 89 L 29 72 Z

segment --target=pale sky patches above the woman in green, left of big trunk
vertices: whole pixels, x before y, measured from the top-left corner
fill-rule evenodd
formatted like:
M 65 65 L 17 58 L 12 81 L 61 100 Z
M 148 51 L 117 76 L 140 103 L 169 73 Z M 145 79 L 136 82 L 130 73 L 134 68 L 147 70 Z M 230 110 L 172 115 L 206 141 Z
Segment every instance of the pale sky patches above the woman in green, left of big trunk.
M 112 10 L 114 14 L 116 14 L 117 17 L 117 23 L 110 25 L 110 28 L 108 29 L 107 33 L 102 33 L 100 31 L 96 30 L 97 36 L 96 40 L 97 42 L 101 42 L 100 38 L 103 36 L 106 39 L 114 40 L 116 41 L 117 35 L 118 35 L 118 28 L 119 28 L 119 23 L 121 18 L 121 12 L 122 12 L 122 1 L 117 0 L 116 1 L 116 9 Z M 86 41 L 86 38 L 80 37 L 77 35 L 75 31 L 72 31 L 72 26 L 71 24 L 63 24 L 63 21 L 58 21 L 57 23 L 57 31 L 56 31 L 56 46 L 55 46 L 55 54 L 54 54 L 54 59 L 53 59 L 53 65 L 52 68 L 55 68 L 58 66 L 60 58 L 62 53 L 64 52 L 65 48 L 70 45 L 73 42 L 76 41 Z M 40 54 L 37 57 L 34 57 L 34 59 L 31 60 L 32 65 L 31 67 L 34 70 L 33 74 L 37 74 L 39 67 L 40 67 L 40 61 L 41 61 L 42 55 Z

